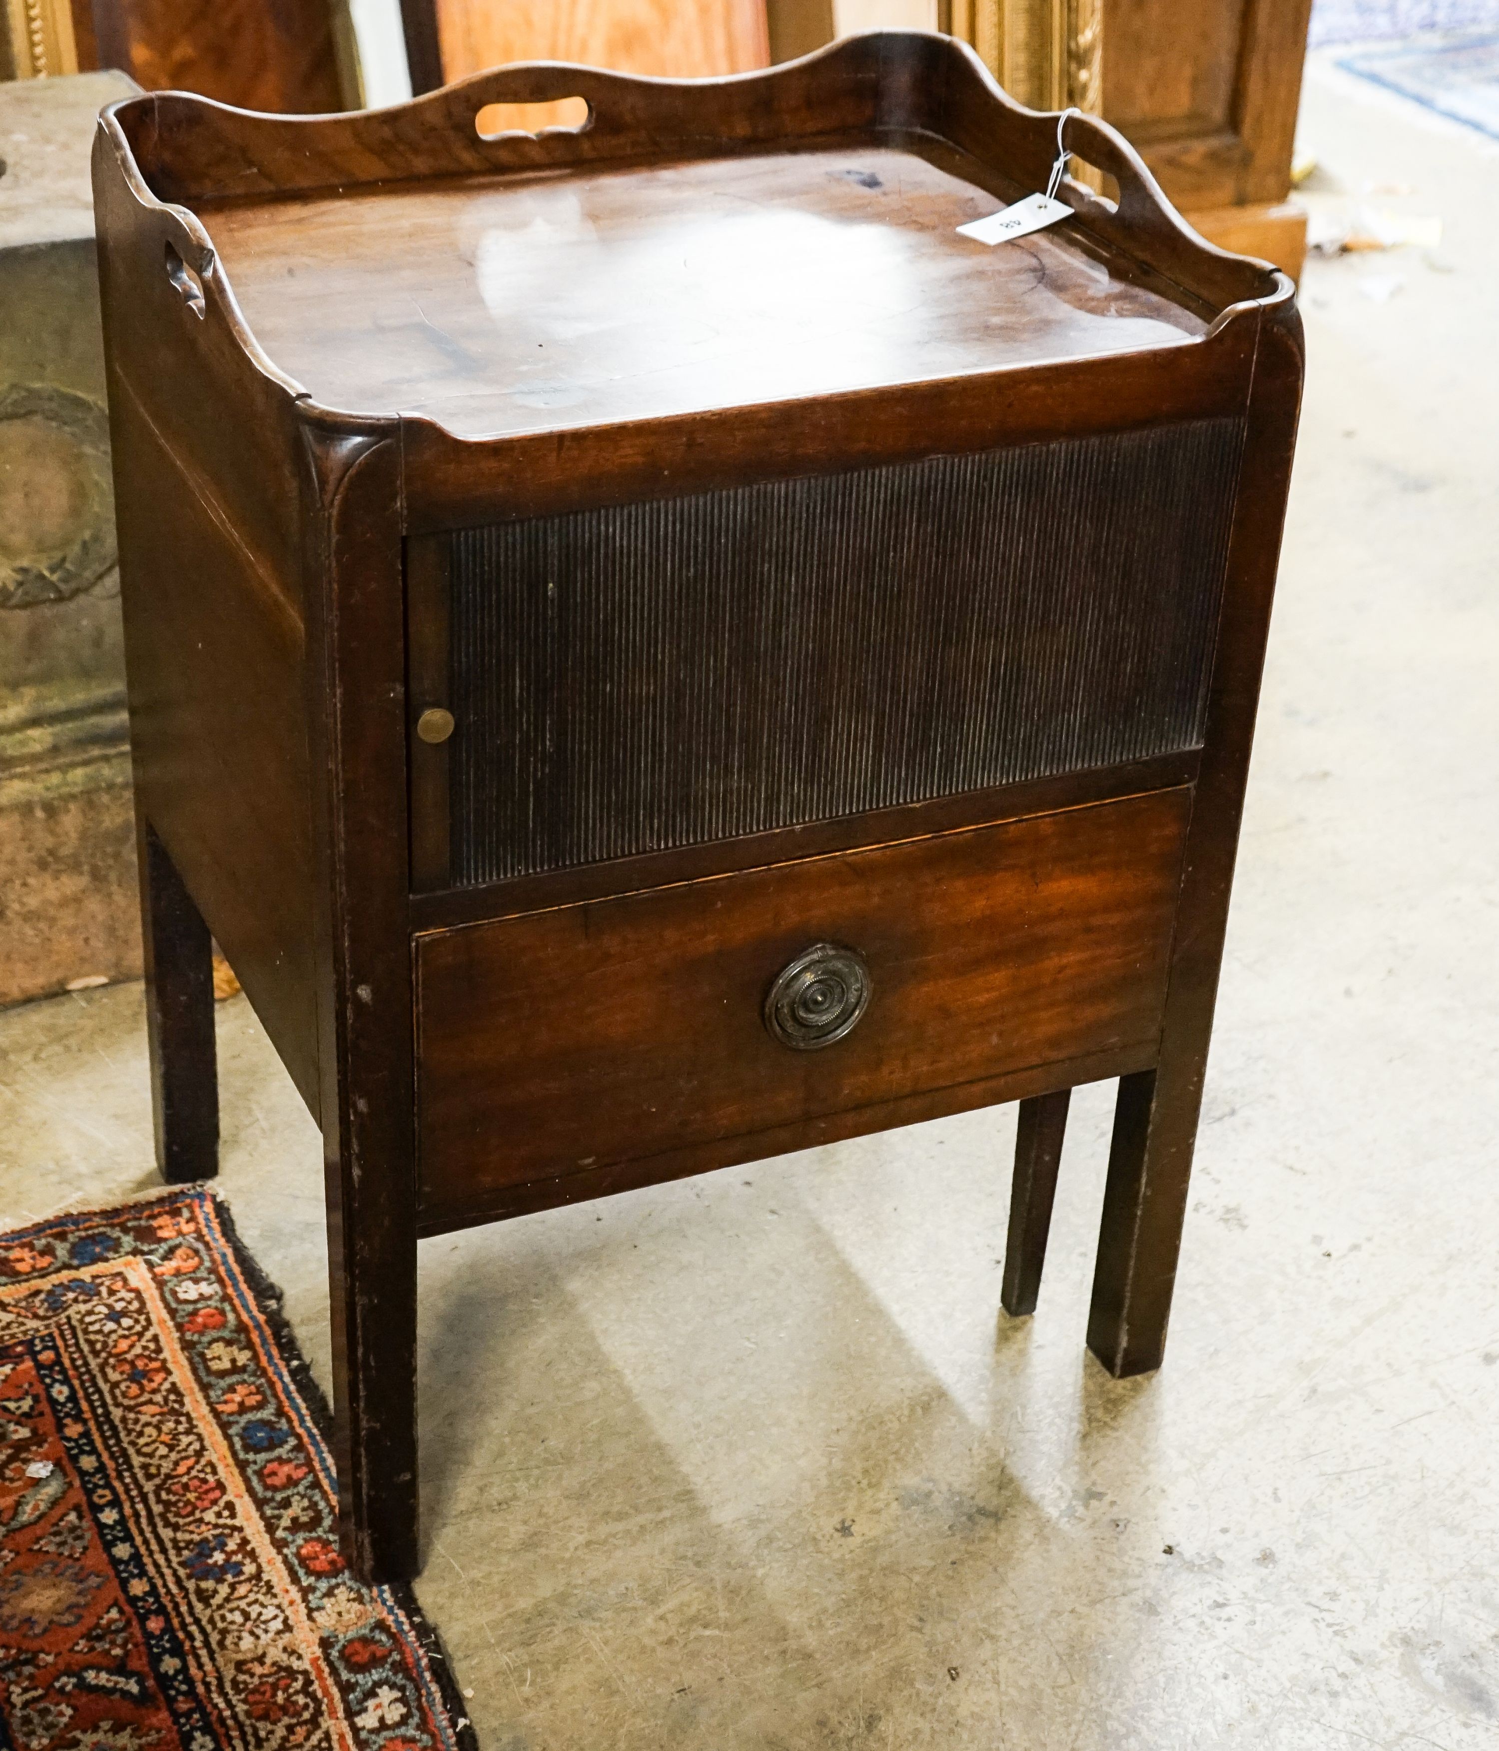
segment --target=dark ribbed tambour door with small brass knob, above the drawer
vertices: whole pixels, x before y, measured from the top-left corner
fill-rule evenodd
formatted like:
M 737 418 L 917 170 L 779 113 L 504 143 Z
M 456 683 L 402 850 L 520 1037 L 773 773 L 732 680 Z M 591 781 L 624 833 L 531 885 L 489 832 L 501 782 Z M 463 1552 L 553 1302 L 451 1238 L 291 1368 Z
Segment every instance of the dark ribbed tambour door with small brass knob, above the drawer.
M 1200 748 L 1242 436 L 1201 418 L 413 543 L 415 888 Z

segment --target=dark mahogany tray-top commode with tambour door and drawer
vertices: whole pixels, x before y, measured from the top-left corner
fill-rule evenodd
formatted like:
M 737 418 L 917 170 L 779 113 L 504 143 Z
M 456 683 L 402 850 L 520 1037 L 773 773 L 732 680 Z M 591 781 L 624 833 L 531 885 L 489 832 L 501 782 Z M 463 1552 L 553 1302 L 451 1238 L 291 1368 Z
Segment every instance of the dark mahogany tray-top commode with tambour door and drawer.
M 105 112 L 158 1156 L 215 1171 L 212 932 L 322 1126 L 362 1574 L 419 1234 L 1021 1100 L 1023 1313 L 1119 1077 L 1087 1341 L 1161 1361 L 1301 338 L 1066 130 L 1117 207 L 988 249 L 1058 117 L 940 37 Z

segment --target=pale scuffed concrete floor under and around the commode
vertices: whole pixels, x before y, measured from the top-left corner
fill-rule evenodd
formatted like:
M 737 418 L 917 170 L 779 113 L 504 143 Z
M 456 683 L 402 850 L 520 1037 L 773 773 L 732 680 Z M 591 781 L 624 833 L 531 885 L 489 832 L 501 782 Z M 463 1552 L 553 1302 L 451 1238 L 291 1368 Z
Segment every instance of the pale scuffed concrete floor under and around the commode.
M 1082 1348 L 1108 1087 L 1035 1320 L 1012 1108 L 426 1241 L 419 1593 L 485 1751 L 1499 1742 L 1499 149 L 1326 68 L 1306 116 L 1448 240 L 1306 271 L 1165 1371 Z M 243 1000 L 219 1044 L 326 1378 L 317 1138 Z M 138 988 L 0 1061 L 5 1226 L 152 1184 Z

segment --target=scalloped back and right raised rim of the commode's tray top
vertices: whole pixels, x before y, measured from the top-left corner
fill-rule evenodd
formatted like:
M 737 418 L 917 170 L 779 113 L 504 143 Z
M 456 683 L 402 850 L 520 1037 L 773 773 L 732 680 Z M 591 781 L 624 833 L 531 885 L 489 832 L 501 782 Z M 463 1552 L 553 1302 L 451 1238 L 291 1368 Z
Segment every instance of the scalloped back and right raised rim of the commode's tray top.
M 490 103 L 580 96 L 588 124 L 541 135 L 482 135 Z M 951 37 L 876 32 L 758 77 L 641 81 L 597 68 L 532 63 L 494 68 L 389 110 L 284 119 L 215 109 L 186 96 L 112 107 L 152 194 L 201 212 L 210 201 L 345 194 L 389 184 L 527 172 L 671 166 L 683 159 L 764 152 L 905 147 L 993 205 L 1045 186 L 1058 117 L 1012 103 L 965 44 Z M 1263 270 L 1207 250 L 1182 226 L 1128 142 L 1091 116 L 1073 116 L 1068 145 L 1112 177 L 1119 201 L 1072 179 L 1068 236 L 1110 277 L 1154 273 L 1168 303 L 1212 320 L 1270 294 Z M 403 238 L 392 236 L 399 252 Z M 977 245 L 982 247 L 982 245 Z M 1194 303 L 1196 301 L 1196 303 Z

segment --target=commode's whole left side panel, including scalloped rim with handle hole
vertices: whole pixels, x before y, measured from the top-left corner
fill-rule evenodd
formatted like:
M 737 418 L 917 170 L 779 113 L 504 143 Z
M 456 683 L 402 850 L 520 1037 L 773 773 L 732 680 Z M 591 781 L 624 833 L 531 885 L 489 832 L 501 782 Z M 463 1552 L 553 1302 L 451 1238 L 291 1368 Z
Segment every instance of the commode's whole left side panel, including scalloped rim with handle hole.
M 296 404 L 107 121 L 95 208 L 137 807 L 317 1112 Z

